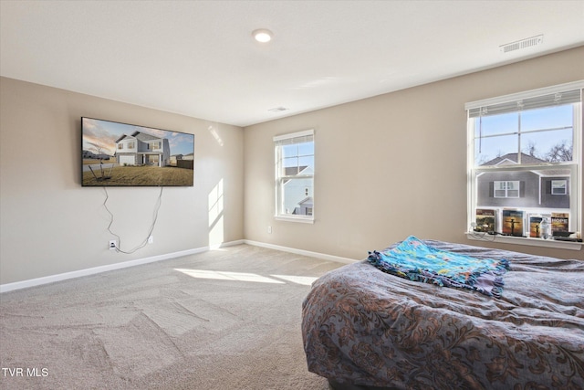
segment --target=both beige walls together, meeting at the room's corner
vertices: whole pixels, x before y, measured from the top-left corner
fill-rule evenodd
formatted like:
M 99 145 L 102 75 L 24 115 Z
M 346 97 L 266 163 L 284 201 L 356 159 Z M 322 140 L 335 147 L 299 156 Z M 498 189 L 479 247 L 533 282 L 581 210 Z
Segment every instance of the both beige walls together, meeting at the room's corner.
M 408 235 L 488 246 L 463 234 L 464 103 L 584 79 L 583 63 L 579 47 L 243 131 L 2 78 L 0 284 L 242 238 L 343 258 L 365 258 Z M 80 186 L 81 116 L 195 134 L 194 186 L 164 189 L 154 244 L 132 255 L 107 248 L 104 191 Z M 306 129 L 316 131 L 316 222 L 276 221 L 272 137 Z M 223 207 L 215 218 L 209 203 L 217 184 Z M 112 229 L 122 248 L 134 248 L 150 227 L 159 189 L 109 194 Z M 584 251 L 498 247 L 584 258 Z

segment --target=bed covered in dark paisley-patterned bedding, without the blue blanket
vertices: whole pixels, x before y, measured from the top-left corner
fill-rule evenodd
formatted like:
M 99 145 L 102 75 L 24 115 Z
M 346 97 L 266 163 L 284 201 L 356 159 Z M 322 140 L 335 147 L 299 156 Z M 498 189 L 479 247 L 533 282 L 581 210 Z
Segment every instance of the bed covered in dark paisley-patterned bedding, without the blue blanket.
M 302 304 L 310 372 L 339 390 L 584 388 L 584 261 L 421 242 L 506 259 L 499 294 L 398 277 L 371 258 L 330 271 Z

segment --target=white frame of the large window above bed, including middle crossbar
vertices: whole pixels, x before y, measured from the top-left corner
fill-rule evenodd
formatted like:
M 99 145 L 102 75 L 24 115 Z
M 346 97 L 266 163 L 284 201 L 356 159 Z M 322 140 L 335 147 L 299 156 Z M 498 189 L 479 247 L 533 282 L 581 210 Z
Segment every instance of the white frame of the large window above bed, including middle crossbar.
M 567 90 L 580 90 L 580 102 L 576 103 L 576 110 L 574 112 L 574 135 L 573 135 L 573 159 L 571 163 L 559 164 L 561 168 L 568 168 L 571 171 L 570 177 L 576 179 L 576 184 L 570 180 L 570 188 L 567 188 L 567 193 L 570 195 L 570 211 L 572 212 L 572 223 L 570 230 L 582 231 L 582 137 L 583 137 L 583 123 L 582 123 L 582 95 L 584 94 L 584 80 L 574 81 L 566 84 L 561 84 L 557 86 L 542 88 L 538 90 L 528 90 L 525 92 L 520 92 L 516 94 L 501 96 L 498 98 L 486 99 L 486 100 L 476 100 L 468 102 L 464 105 L 464 109 L 467 114 L 470 110 L 481 109 L 482 107 L 491 106 L 495 104 L 502 104 L 511 101 L 520 101 L 524 99 L 534 98 L 538 96 L 544 96 L 554 93 L 561 93 Z M 481 109 L 482 110 L 482 109 Z M 467 126 L 467 230 L 466 237 L 469 239 L 478 240 L 489 240 L 498 241 L 511 244 L 520 244 L 527 246 L 537 246 L 537 247 L 547 247 L 547 248 L 563 248 L 563 249 L 574 249 L 580 250 L 582 243 L 579 242 L 566 242 L 566 241 L 556 241 L 550 239 L 541 238 L 530 238 L 530 237 L 501 237 L 501 236 L 490 236 L 485 233 L 478 233 L 472 230 L 472 223 L 474 222 L 475 210 L 476 210 L 476 177 L 477 172 L 474 167 L 474 126 L 471 124 L 470 116 L 468 118 Z M 551 167 L 547 167 L 551 168 Z M 493 167 L 493 170 L 499 170 L 501 167 Z M 517 165 L 517 166 L 507 166 L 503 168 L 504 170 L 527 170 L 530 169 L 529 166 Z M 488 169 L 487 169 L 488 171 Z M 482 170 L 485 172 L 485 170 Z M 568 185 L 567 185 L 568 187 Z

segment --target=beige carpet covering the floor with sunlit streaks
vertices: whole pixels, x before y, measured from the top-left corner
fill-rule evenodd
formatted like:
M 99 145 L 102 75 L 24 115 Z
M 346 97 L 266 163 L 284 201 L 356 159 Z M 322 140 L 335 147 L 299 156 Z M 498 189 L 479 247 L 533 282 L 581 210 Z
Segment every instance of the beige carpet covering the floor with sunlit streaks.
M 307 389 L 310 282 L 340 263 L 247 245 L 0 295 L 2 389 Z

